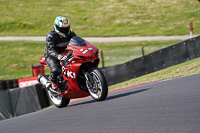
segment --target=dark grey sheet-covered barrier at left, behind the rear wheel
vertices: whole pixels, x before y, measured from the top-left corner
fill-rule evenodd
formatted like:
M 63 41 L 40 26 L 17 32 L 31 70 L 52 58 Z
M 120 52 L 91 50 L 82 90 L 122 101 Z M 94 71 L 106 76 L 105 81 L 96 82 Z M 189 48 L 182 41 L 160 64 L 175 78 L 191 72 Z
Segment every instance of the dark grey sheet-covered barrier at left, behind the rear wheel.
M 41 85 L 14 88 L 0 92 L 0 120 L 48 107 L 49 100 Z

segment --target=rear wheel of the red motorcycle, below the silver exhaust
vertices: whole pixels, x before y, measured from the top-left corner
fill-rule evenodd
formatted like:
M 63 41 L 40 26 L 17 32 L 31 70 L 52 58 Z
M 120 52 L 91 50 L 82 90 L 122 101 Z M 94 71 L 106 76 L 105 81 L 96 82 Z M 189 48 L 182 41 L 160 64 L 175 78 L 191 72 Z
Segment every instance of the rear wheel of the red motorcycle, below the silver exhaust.
M 50 90 L 47 90 L 47 93 L 52 104 L 54 104 L 58 108 L 66 107 L 70 102 L 70 99 L 66 99 L 60 96 L 57 96 L 57 97 L 54 96 Z

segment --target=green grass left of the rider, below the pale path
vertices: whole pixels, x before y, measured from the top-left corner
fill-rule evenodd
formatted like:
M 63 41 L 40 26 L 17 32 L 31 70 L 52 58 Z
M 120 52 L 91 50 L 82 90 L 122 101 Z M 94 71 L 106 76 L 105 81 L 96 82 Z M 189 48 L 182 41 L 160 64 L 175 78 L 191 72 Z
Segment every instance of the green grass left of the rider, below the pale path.
M 0 42 L 0 79 L 32 76 L 31 64 L 39 64 L 44 47 L 44 42 Z

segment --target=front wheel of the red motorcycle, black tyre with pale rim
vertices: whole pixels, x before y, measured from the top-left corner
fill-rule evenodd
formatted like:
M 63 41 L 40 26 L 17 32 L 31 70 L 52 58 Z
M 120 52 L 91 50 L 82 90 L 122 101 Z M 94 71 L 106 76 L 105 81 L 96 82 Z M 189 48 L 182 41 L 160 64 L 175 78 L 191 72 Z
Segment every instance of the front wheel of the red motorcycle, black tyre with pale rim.
M 88 91 L 96 101 L 103 101 L 108 95 L 108 85 L 103 72 L 95 68 L 90 72 L 92 82 L 86 83 Z

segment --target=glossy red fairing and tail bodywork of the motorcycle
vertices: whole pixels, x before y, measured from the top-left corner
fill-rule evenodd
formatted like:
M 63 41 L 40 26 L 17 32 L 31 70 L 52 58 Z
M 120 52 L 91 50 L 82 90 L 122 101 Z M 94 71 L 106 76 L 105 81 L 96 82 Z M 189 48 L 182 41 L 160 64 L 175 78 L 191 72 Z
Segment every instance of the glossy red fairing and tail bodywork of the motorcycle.
M 80 71 L 80 67 L 83 63 L 92 62 L 94 66 L 99 65 L 99 50 L 94 45 L 91 45 L 88 41 L 86 41 L 87 45 L 84 46 L 76 46 L 76 45 L 68 45 L 67 51 L 61 53 L 62 55 L 68 55 L 73 51 L 74 58 L 69 61 L 67 65 L 63 65 L 62 67 L 62 76 L 65 80 L 68 80 L 68 90 L 64 91 L 61 96 L 72 99 L 72 98 L 80 98 L 89 96 L 89 92 L 85 92 L 81 90 L 78 86 L 78 75 Z M 44 57 L 41 57 L 39 62 L 42 65 L 47 66 Z

